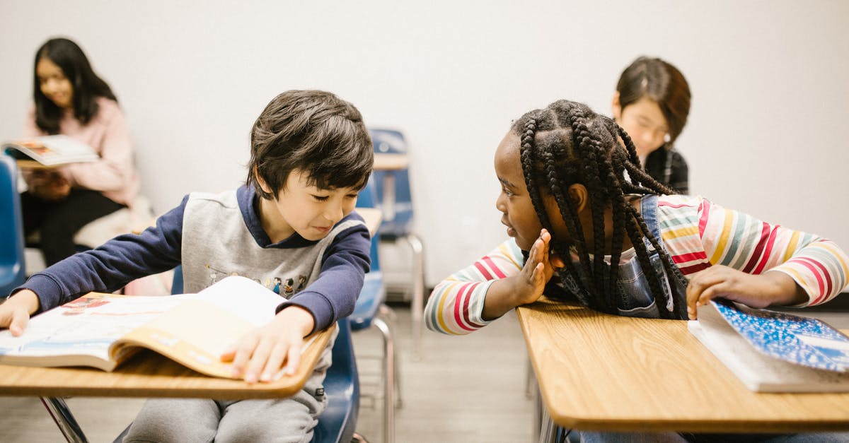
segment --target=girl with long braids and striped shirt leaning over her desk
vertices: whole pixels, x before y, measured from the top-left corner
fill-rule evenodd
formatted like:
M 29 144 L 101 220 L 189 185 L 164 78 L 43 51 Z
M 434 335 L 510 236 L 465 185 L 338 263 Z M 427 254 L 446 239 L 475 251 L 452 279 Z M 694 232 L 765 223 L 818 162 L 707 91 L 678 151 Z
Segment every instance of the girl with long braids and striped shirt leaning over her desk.
M 436 285 L 424 314 L 432 330 L 469 334 L 543 293 L 683 320 L 715 297 L 808 306 L 847 283 L 849 258 L 836 244 L 672 194 L 642 169 L 627 132 L 584 104 L 523 115 L 495 170 L 511 238 Z

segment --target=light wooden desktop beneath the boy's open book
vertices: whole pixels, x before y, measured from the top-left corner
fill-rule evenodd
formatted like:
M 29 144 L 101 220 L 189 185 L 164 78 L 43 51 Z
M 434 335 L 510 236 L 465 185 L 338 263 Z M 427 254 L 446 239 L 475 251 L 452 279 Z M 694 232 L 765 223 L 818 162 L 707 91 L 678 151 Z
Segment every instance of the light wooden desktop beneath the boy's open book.
M 143 350 L 111 373 L 86 367 L 0 365 L 0 395 L 214 399 L 286 397 L 306 384 L 334 328 L 318 333 L 302 354 L 301 367 L 295 375 L 284 376 L 272 383 L 247 384 L 242 380 L 209 377 L 153 351 Z

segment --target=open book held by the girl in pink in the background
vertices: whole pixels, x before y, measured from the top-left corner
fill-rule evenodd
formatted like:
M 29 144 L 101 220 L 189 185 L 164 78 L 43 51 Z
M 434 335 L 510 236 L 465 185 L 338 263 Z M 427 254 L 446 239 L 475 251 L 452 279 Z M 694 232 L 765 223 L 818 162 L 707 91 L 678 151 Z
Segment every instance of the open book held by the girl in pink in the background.
M 3 143 L 6 154 L 18 160 L 20 167 L 45 168 L 67 163 L 97 161 L 92 147 L 65 135 L 31 137 Z

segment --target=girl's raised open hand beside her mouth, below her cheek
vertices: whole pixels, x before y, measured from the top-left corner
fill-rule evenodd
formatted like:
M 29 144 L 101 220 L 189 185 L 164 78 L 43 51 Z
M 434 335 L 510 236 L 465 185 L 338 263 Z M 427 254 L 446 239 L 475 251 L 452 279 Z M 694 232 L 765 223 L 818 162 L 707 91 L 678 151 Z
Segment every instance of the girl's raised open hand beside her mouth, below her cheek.
M 548 245 L 551 234 L 547 230 L 540 231 L 539 238 L 533 242 L 528 260 L 519 275 L 512 277 L 514 284 L 515 306 L 526 305 L 539 300 L 543 295 L 545 283 L 554 275 L 554 269 L 563 267 L 563 261 L 557 256 L 551 256 Z

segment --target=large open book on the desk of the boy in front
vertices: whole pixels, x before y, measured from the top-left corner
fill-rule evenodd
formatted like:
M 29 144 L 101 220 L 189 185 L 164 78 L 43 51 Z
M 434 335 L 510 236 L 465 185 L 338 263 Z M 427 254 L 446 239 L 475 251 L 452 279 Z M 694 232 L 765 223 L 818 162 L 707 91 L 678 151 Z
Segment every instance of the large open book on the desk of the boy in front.
M 89 293 L 32 317 L 20 337 L 0 331 L 0 364 L 112 371 L 147 348 L 199 373 L 229 379 L 232 367 L 220 361 L 221 353 L 271 321 L 283 300 L 235 276 L 197 294 Z

